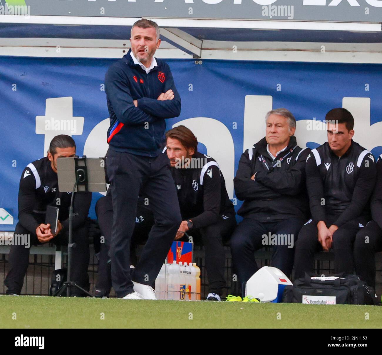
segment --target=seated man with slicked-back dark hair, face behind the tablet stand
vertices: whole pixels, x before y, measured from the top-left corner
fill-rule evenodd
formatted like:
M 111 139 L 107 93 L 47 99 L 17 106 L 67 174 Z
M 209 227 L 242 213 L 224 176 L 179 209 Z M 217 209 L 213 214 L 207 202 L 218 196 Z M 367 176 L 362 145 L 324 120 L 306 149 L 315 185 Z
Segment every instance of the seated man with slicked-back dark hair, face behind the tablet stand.
M 27 165 L 20 179 L 18 196 L 18 223 L 16 235 L 31 238 L 31 245 L 52 242 L 67 245 L 69 236 L 69 207 L 72 193 L 59 192 L 57 180 L 57 159 L 74 157 L 76 143 L 68 135 L 58 135 L 52 139 L 48 155 Z M 90 192 L 74 193 L 73 207 L 73 243 L 71 281 L 89 291 L 89 225 L 87 215 L 91 204 Z M 45 224 L 47 206 L 59 207 L 57 233 Z M 29 248 L 13 244 L 9 254 L 9 272 L 4 284 L 6 294 L 19 295 L 24 283 L 24 276 L 29 263 Z M 71 288 L 71 296 L 86 296 L 77 288 Z

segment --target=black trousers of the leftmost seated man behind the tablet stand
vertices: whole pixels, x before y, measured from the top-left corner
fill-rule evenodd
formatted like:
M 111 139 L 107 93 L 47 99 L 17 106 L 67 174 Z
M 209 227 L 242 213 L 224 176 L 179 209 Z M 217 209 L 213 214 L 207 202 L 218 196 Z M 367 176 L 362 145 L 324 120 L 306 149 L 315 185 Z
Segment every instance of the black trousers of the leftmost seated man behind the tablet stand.
M 17 223 L 15 235 L 26 234 L 31 236 L 31 245 L 40 245 L 35 232 L 28 231 L 20 223 Z M 76 247 L 72 249 L 71 259 L 71 281 L 79 284 L 83 289 L 89 290 L 89 275 L 87 267 L 89 266 L 89 225 L 87 222 L 81 227 L 73 230 L 73 243 Z M 68 245 L 68 230 L 58 234 L 50 243 L 56 245 Z M 8 288 L 6 294 L 20 294 L 23 288 L 24 276 L 29 263 L 29 248 L 24 245 L 12 245 L 9 253 L 9 272 L 5 278 L 4 284 Z M 71 296 L 84 296 L 81 291 L 72 288 Z

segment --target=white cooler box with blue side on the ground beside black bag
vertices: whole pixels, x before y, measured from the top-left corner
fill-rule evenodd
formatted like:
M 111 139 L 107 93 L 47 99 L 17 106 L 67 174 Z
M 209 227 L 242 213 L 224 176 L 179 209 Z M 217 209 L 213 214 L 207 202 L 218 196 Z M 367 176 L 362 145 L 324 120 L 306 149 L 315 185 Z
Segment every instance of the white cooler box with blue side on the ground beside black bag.
M 286 285 L 292 283 L 281 270 L 264 266 L 247 281 L 245 296 L 258 298 L 261 302 L 279 303 Z

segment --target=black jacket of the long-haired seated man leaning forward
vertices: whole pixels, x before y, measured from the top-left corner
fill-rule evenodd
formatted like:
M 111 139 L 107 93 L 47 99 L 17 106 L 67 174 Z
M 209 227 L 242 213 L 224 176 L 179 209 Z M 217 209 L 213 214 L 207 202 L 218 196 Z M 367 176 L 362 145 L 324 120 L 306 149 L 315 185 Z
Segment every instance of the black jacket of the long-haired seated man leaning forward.
M 164 151 L 164 154 L 167 153 Z M 171 168 L 182 219 L 191 218 L 194 228 L 203 228 L 216 223 L 219 218 L 225 218 L 226 215 L 230 218 L 235 216 L 235 209 L 228 198 L 218 163 L 199 152 L 193 157 L 200 159 L 203 164 L 194 169 Z

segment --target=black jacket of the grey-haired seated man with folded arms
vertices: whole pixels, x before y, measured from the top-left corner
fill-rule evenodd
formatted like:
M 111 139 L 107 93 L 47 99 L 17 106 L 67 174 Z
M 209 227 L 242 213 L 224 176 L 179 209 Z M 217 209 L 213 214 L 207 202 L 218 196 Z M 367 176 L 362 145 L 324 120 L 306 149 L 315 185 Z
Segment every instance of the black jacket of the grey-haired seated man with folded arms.
M 236 197 L 244 201 L 238 215 L 259 222 L 309 217 L 304 172 L 309 153 L 310 149 L 300 148 L 292 136 L 275 160 L 267 152 L 265 138 L 241 154 L 233 180 Z M 251 179 L 254 173 L 255 181 Z

